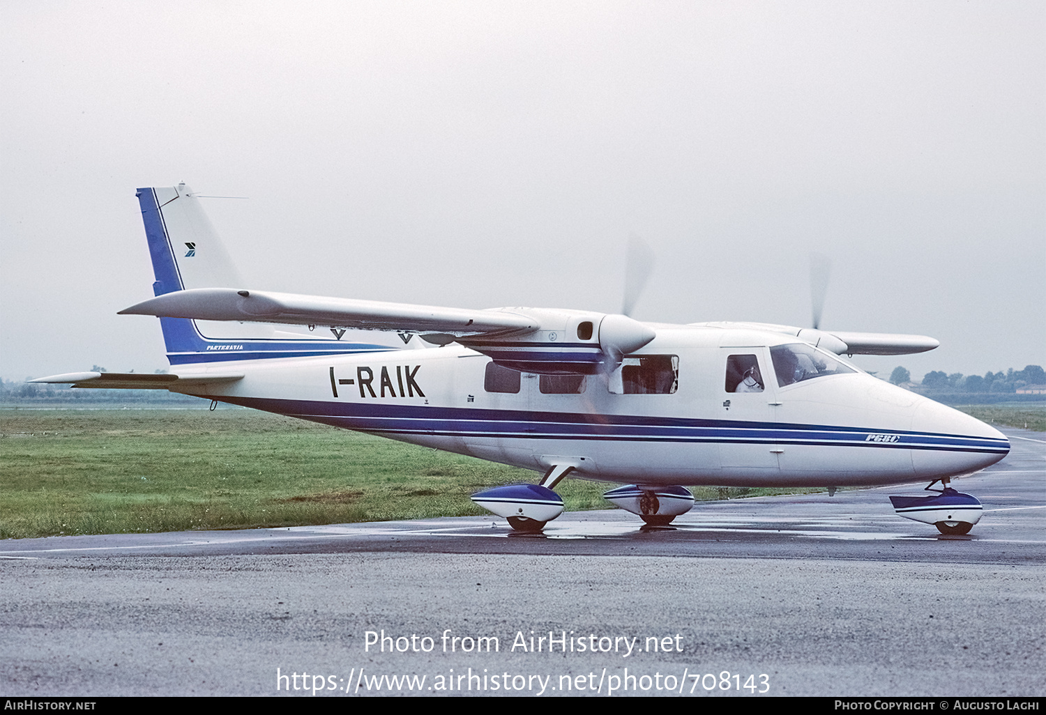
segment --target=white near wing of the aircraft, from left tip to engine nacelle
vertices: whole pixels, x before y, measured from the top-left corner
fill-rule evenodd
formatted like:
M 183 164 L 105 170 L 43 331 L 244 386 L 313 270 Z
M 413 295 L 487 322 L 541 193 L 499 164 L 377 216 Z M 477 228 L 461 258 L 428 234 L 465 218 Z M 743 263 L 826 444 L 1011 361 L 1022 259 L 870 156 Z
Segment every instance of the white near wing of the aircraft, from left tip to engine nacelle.
M 468 310 L 234 289 L 167 293 L 124 308 L 120 315 L 434 331 L 458 337 L 528 332 L 538 327 L 530 318 L 506 310 Z

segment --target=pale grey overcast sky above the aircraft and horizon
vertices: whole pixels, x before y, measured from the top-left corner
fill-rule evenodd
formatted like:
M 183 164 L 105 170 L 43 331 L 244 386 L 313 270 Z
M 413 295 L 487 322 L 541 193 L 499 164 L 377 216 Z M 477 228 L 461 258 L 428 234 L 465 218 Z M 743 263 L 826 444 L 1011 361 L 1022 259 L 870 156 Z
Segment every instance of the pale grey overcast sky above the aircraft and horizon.
M 0 2 L 0 375 L 167 367 L 134 189 L 247 285 L 1046 365 L 1046 3 Z

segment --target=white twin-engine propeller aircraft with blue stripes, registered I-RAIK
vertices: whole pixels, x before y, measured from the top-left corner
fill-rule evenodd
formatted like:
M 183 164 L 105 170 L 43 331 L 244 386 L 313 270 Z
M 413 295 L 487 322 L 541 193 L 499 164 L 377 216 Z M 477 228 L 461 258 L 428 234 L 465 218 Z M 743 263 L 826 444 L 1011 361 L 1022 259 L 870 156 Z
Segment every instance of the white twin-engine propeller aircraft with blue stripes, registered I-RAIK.
M 156 297 L 120 313 L 159 317 L 170 373 L 35 382 L 166 389 L 535 469 L 538 484 L 473 495 L 520 531 L 563 512 L 552 489 L 571 476 L 624 484 L 606 498 L 652 526 L 693 506 L 688 485 L 926 480 L 942 488 L 891 497 L 896 512 L 962 534 L 981 505 L 949 480 L 1009 452 L 987 424 L 838 356 L 922 352 L 931 338 L 254 291 L 188 187 L 137 197 Z M 251 332 L 210 337 L 211 321 Z

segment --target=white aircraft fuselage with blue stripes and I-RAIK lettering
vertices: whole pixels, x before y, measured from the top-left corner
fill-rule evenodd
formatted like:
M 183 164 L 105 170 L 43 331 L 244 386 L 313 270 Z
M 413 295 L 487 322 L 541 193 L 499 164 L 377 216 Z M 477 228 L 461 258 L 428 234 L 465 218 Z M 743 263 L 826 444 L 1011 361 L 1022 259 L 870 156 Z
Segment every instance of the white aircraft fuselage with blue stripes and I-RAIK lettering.
M 1008 452 L 983 422 L 852 366 L 782 385 L 791 377 L 771 350 L 794 339 L 655 327 L 657 338 L 616 372 L 515 373 L 506 387 L 492 378 L 487 355 L 452 344 L 223 361 L 244 378 L 191 394 L 529 469 L 569 464 L 575 477 L 651 485 L 896 484 L 970 474 Z M 738 365 L 754 366 L 757 389 L 731 379 Z

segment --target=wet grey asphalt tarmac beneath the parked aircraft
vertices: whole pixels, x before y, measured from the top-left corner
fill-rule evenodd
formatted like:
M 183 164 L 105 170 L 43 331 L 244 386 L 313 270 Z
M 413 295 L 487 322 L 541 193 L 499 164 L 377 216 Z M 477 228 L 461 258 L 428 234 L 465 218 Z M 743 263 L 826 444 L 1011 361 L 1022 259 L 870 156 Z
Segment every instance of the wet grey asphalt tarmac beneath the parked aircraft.
M 0 695 L 1044 695 L 1046 435 L 1004 431 L 967 536 L 912 485 L 0 541 Z

